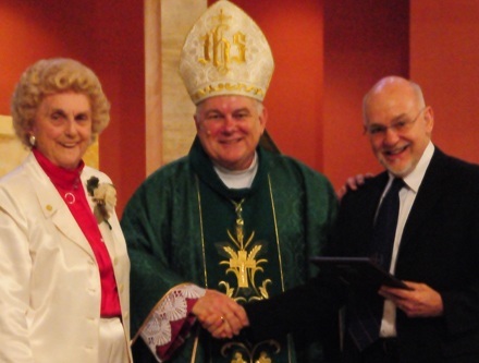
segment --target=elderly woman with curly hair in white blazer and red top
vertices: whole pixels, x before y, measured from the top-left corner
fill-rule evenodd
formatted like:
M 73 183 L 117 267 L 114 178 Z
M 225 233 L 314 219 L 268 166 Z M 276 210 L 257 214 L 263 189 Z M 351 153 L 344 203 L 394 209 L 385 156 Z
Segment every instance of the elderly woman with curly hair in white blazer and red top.
M 16 85 L 13 124 L 32 152 L 0 179 L 1 362 L 131 362 L 115 192 L 82 160 L 109 110 L 74 60 L 40 60 Z

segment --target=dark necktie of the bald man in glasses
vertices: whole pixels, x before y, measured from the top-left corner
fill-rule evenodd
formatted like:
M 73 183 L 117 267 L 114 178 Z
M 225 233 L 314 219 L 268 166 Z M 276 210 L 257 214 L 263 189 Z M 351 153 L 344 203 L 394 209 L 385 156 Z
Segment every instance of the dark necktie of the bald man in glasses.
M 371 258 L 389 271 L 400 214 L 402 179 L 394 179 L 379 207 L 370 246 Z M 372 292 L 374 293 L 374 292 Z M 355 301 L 351 311 L 348 331 L 359 350 L 364 350 L 379 338 L 384 301 L 373 295 L 369 301 Z

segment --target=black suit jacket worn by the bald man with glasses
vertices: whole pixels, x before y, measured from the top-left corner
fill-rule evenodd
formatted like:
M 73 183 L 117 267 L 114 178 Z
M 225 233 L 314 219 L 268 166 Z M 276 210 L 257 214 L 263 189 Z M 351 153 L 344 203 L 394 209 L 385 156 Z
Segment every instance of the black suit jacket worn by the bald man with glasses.
M 332 254 L 367 253 L 386 182 L 383 172 L 344 196 Z M 397 310 L 400 361 L 479 362 L 478 166 L 435 148 L 403 231 L 395 276 L 430 286 L 444 305 L 443 316 L 430 318 L 408 318 Z M 265 327 L 257 338 L 305 329 L 317 334 L 311 327 L 321 326 L 347 299 L 344 290 L 329 285 L 318 277 L 271 301 L 246 306 L 250 324 Z

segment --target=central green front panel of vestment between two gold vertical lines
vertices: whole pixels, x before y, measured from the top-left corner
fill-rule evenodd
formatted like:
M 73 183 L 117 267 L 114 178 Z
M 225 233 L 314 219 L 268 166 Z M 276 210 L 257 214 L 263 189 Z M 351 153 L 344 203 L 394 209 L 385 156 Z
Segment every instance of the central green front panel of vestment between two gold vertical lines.
M 191 153 L 197 174 L 206 287 L 224 292 L 238 303 L 269 299 L 285 289 L 272 192 L 274 181 L 261 149 L 258 153 L 259 166 L 253 185 L 241 190 L 230 190 L 223 184 L 198 141 Z M 250 342 L 240 335 L 231 340 L 217 340 L 207 331 L 201 331 L 199 339 L 208 356 L 206 362 L 295 362 L 291 339 Z

